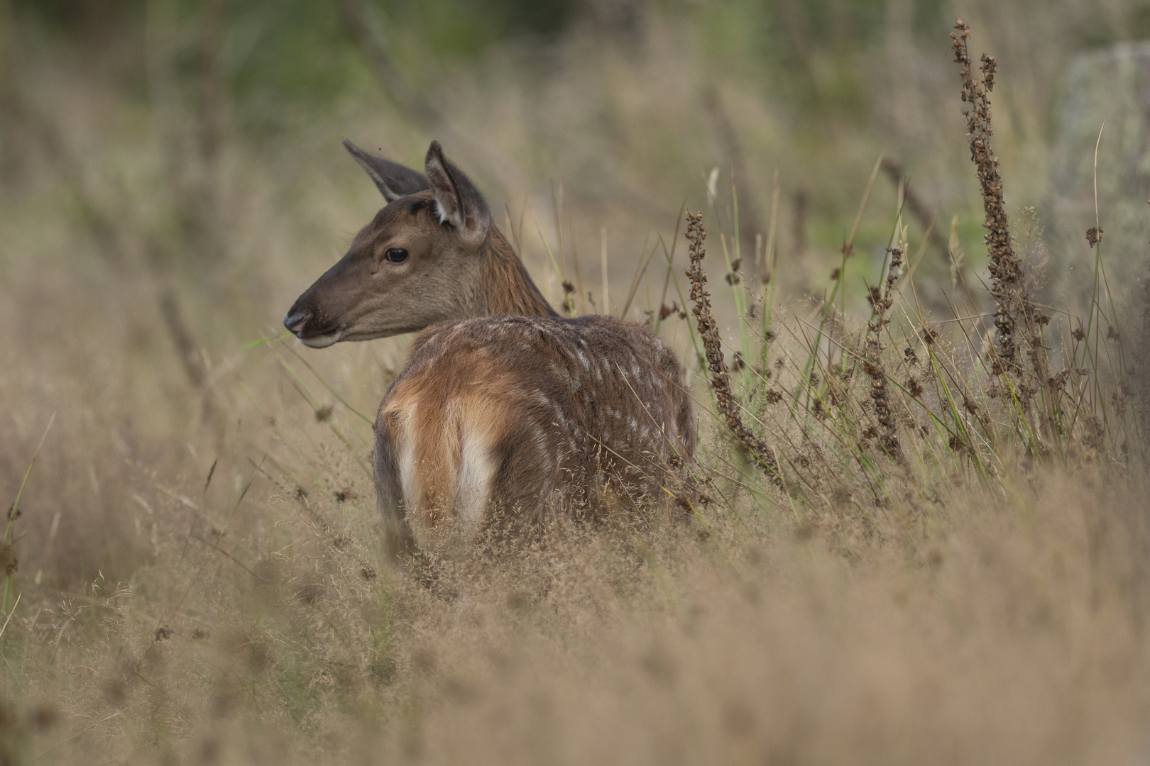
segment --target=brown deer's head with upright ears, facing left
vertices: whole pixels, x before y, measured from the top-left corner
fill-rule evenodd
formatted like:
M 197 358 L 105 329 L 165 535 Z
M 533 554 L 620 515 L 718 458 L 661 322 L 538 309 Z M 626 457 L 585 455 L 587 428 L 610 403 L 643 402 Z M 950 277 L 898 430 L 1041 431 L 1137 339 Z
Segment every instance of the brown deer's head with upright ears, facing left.
M 323 348 L 489 314 L 483 285 L 491 234 L 504 246 L 497 249 L 509 253 L 509 247 L 491 226 L 483 195 L 447 161 L 439 142 L 428 149 L 427 175 L 348 140 L 344 146 L 388 206 L 360 230 L 347 254 L 299 296 L 284 326 L 307 346 Z M 513 253 L 511 257 L 518 263 Z M 538 294 L 534 285 L 530 288 Z

